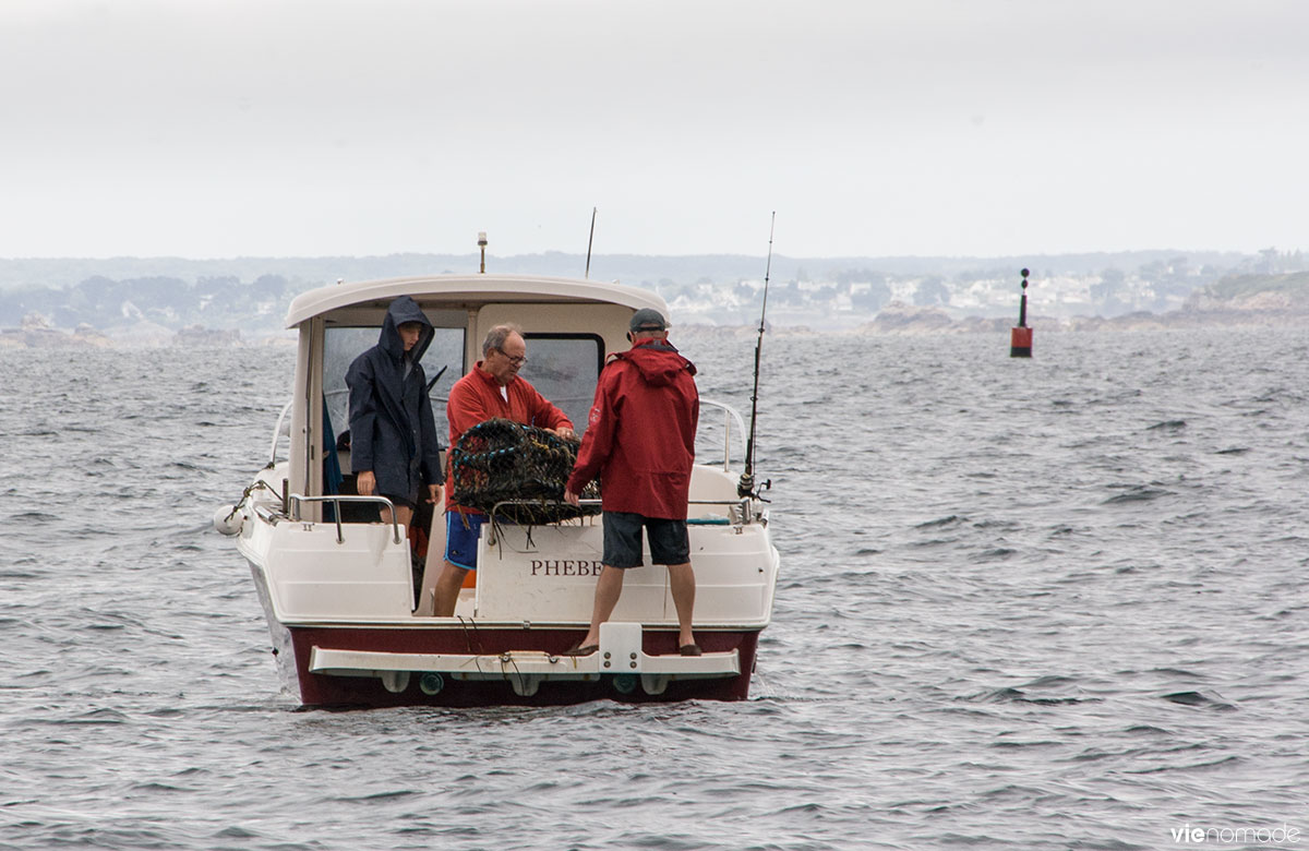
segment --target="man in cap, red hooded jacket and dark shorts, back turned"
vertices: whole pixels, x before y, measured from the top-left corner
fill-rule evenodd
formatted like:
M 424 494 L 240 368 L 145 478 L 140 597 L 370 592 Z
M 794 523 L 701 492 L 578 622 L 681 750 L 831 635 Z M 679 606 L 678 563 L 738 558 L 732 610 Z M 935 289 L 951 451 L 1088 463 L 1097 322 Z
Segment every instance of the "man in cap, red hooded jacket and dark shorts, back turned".
M 590 630 L 569 652 L 586 656 L 600 649 L 600 625 L 618 605 L 623 571 L 643 564 L 644 528 L 651 560 L 668 566 L 678 651 L 699 656 L 691 631 L 695 573 L 686 533 L 695 424 L 700 416 L 695 364 L 668 342 L 668 323 L 657 310 L 637 310 L 628 327 L 632 347 L 610 355 L 600 374 L 586 436 L 564 486 L 564 499 L 576 505 L 577 495 L 600 474 L 605 511 L 603 570 L 596 580 Z

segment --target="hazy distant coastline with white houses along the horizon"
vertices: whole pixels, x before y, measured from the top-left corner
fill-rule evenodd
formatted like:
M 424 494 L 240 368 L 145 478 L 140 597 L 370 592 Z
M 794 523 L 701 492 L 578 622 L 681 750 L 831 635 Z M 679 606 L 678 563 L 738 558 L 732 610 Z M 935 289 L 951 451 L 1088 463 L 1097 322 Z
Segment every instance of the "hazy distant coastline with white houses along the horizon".
M 359 279 L 419 268 L 467 271 L 466 259 L 0 259 L 0 347 L 280 346 L 292 339 L 281 327 L 291 300 L 334 283 L 314 275 L 347 268 Z M 751 276 L 761 264 L 755 258 L 601 259 L 596 267 L 627 272 L 623 283 L 658 292 L 679 334 L 753 334 L 758 329 L 763 281 Z M 1028 325 L 1042 333 L 1271 327 L 1309 321 L 1309 268 L 1299 251 L 1039 259 L 1043 266 L 1031 275 Z M 1221 259 L 1224 266 L 1199 259 Z M 559 275 L 575 275 L 569 267 L 577 262 L 563 254 L 499 261 L 513 271 Z M 1128 267 L 1131 262 L 1140 264 Z M 1021 291 L 1013 266 L 1012 258 L 784 261 L 770 280 L 767 322 L 785 334 L 1000 334 L 1017 322 Z M 97 274 L 97 268 L 120 276 Z

